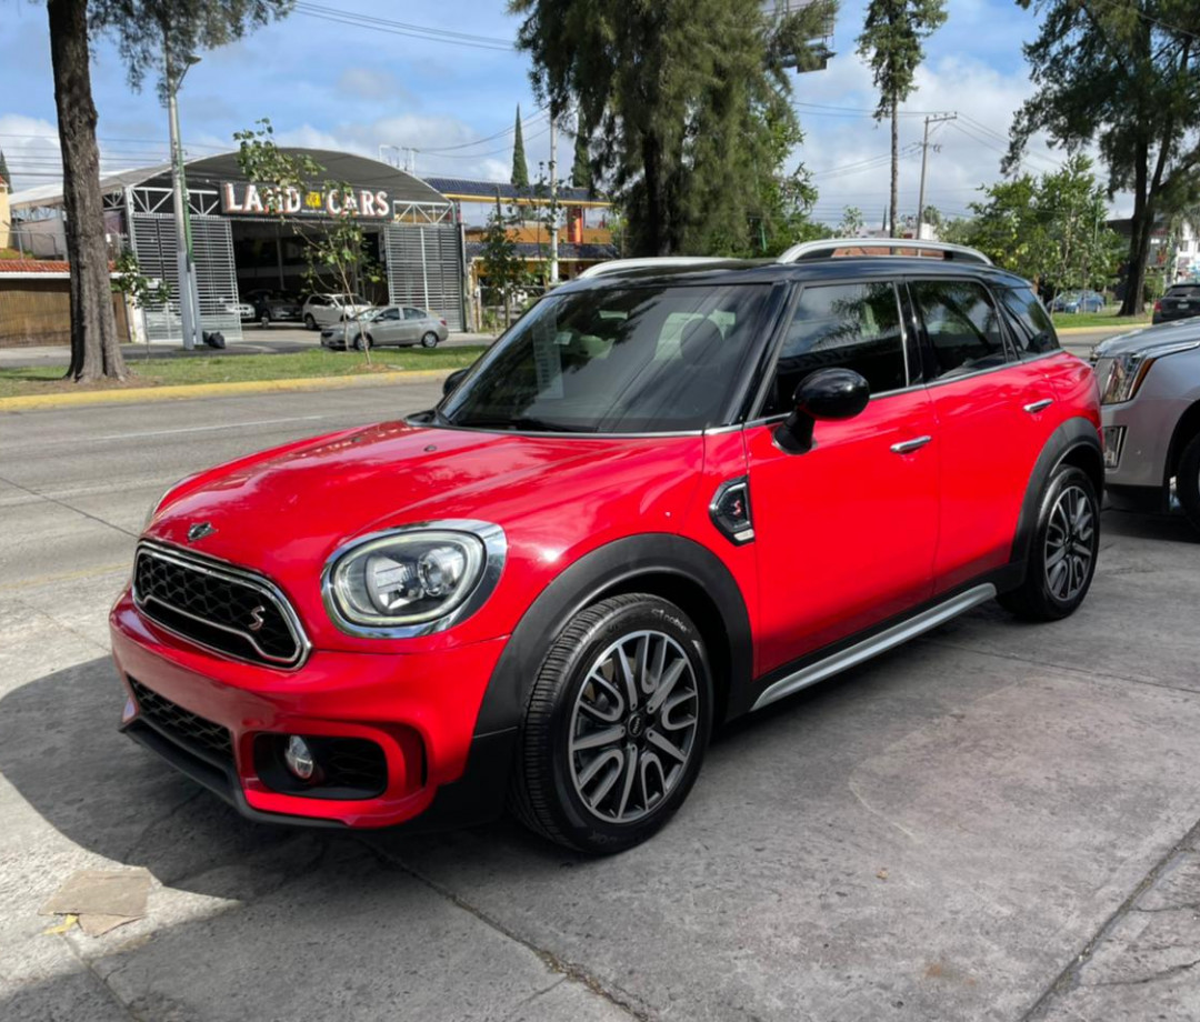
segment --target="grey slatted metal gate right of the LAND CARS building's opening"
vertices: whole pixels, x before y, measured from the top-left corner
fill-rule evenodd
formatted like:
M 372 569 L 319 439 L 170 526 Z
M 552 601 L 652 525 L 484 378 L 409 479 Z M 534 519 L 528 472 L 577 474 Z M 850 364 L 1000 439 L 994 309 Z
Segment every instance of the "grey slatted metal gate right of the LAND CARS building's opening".
M 388 300 L 440 315 L 451 330 L 463 329 L 462 244 L 454 223 L 385 228 Z

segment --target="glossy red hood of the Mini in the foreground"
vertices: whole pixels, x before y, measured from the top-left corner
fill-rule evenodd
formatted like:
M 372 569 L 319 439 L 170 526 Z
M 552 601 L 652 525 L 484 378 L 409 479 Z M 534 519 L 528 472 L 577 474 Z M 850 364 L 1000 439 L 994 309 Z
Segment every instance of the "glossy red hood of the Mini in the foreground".
M 700 437 L 510 435 L 383 422 L 264 451 L 181 483 L 146 535 L 264 571 L 319 606 L 329 555 L 364 533 L 437 518 L 499 524 L 510 563 L 548 564 L 630 531 L 676 531 Z M 188 545 L 197 522 L 215 533 Z

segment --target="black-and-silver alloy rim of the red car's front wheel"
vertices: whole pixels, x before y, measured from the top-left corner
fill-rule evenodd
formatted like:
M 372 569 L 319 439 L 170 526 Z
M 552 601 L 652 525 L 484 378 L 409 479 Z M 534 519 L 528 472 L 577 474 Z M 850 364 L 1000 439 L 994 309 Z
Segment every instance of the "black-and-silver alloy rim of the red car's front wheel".
M 683 778 L 698 729 L 698 685 L 683 647 L 630 632 L 592 663 L 571 709 L 575 793 L 607 823 L 634 823 Z

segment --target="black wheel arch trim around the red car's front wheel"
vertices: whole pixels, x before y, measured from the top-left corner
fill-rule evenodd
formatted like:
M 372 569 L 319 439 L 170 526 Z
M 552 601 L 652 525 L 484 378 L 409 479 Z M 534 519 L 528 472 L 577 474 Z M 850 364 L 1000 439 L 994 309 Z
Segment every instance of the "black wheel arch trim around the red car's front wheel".
M 725 681 L 730 711 L 739 697 L 748 698 L 754 669 L 750 615 L 732 573 L 715 553 L 694 540 L 650 533 L 592 551 L 533 601 L 492 672 L 475 721 L 476 738 L 520 726 L 538 668 L 553 637 L 575 614 L 618 587 L 636 591 L 629 583 L 650 576 L 674 576 L 703 590 L 722 619 L 728 642 Z

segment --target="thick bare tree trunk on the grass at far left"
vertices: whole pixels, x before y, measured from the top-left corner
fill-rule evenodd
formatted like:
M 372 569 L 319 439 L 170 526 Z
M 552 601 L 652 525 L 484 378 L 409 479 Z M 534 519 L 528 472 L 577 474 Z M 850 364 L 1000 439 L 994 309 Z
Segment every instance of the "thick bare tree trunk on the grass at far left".
M 62 146 L 62 208 L 71 263 L 71 366 L 67 379 L 125 379 L 109 283 L 100 194 L 96 107 L 91 101 L 88 0 L 49 0 L 54 102 Z

